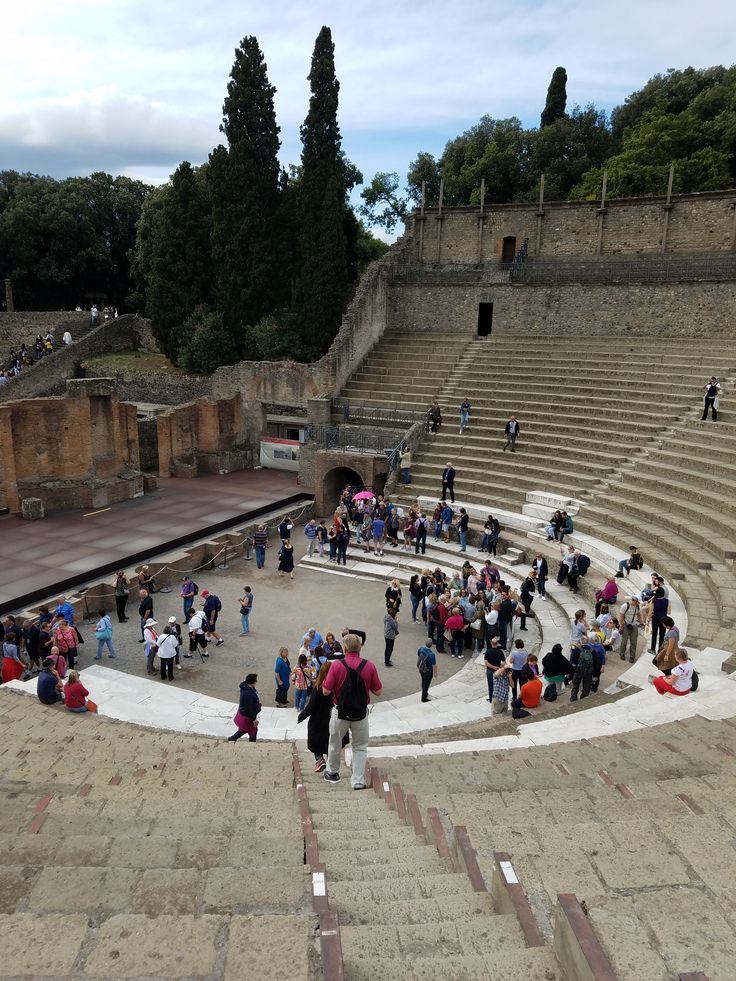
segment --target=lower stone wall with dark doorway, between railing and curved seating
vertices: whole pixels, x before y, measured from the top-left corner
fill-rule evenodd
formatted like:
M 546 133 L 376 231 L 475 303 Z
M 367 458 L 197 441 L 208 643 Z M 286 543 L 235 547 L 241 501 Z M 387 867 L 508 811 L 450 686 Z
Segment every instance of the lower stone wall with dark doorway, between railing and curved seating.
M 391 326 L 402 330 L 477 330 L 478 304 L 493 303 L 494 334 L 660 334 L 732 337 L 734 283 L 602 286 L 395 286 Z

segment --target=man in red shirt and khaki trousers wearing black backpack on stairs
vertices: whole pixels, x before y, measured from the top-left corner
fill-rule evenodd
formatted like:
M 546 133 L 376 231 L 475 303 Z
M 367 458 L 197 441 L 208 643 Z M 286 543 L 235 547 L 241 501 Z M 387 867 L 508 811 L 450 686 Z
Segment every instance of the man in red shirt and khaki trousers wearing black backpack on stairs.
M 340 753 L 342 740 L 350 733 L 353 751 L 353 790 L 365 790 L 365 763 L 368 757 L 368 705 L 371 694 L 380 695 L 383 687 L 372 661 L 361 657 L 360 638 L 355 634 L 343 637 L 345 657 L 332 661 L 322 685 L 322 693 L 331 695 L 330 744 L 327 751 L 325 780 L 340 782 Z

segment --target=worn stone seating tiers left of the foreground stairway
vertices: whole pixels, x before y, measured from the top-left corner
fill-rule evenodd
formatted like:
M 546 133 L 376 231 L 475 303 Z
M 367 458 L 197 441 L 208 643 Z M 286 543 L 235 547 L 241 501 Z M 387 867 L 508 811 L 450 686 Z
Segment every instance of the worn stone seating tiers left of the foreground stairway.
M 0 975 L 320 976 L 289 744 L 0 718 Z

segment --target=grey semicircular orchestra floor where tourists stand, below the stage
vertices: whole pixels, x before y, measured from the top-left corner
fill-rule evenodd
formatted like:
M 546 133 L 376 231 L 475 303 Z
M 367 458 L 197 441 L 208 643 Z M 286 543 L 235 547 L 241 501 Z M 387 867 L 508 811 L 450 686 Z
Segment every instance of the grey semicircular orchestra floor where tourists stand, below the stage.
M 300 557 L 305 549 L 301 528 L 296 529 L 295 551 Z M 259 675 L 258 689 L 264 705 L 275 704 L 273 667 L 279 647 L 289 648 L 292 664 L 296 664 L 299 646 L 304 632 L 316 627 L 323 635 L 332 631 L 339 637 L 344 627 L 356 627 L 368 635 L 366 655 L 378 666 L 384 685 L 384 700 L 418 691 L 419 675 L 416 668 L 416 650 L 423 642 L 423 625 L 411 623 L 411 605 L 408 590 L 404 589 L 404 605 L 399 615 L 400 633 L 394 648 L 393 668 L 383 666 L 383 617 L 385 614 L 384 592 L 386 584 L 358 580 L 343 576 L 324 575 L 318 571 L 297 565 L 294 580 L 279 576 L 277 572 L 277 548 L 267 552 L 266 567 L 256 568 L 253 560 L 235 559 L 227 571 L 214 570 L 196 573 L 195 581 L 200 588 L 216 593 L 222 602 L 220 633 L 225 643 L 220 647 L 211 644 L 210 657 L 203 663 L 199 655 L 182 660 L 182 669 L 176 671 L 174 686 L 187 688 L 234 701 L 238 686 L 249 671 Z M 326 562 L 326 560 L 325 560 Z M 251 632 L 240 637 L 239 598 L 244 585 L 253 589 L 254 607 L 251 615 Z M 159 630 L 170 616 L 183 619 L 182 603 L 178 594 L 154 594 L 154 615 Z M 119 624 L 113 617 L 113 644 L 118 657 L 109 660 L 105 654 L 102 664 L 119 671 L 147 678 L 143 644 L 140 637 L 140 621 L 137 604 L 128 607 L 130 621 Z M 93 664 L 95 645 L 91 627 L 81 627 L 85 637 L 82 647 L 81 666 Z M 531 633 L 529 636 L 532 636 Z M 188 651 L 188 645 L 184 645 Z M 468 658 L 460 660 L 440 655 L 439 680 L 455 674 Z M 170 685 L 155 679 L 157 685 Z M 293 699 L 290 698 L 292 703 Z

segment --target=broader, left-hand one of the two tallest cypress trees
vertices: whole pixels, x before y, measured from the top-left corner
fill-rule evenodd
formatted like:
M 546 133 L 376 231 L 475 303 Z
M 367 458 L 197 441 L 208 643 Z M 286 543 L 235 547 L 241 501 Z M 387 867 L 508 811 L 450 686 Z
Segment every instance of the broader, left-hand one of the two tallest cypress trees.
M 212 254 L 219 306 L 237 347 L 244 328 L 278 299 L 275 247 L 279 197 L 279 127 L 266 63 L 255 37 L 235 51 L 220 131 L 228 146 L 210 156 Z

